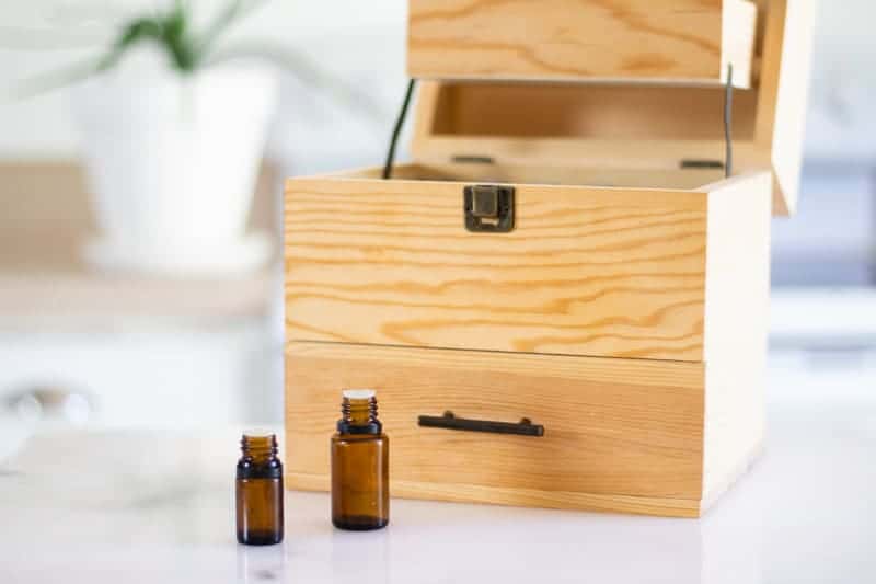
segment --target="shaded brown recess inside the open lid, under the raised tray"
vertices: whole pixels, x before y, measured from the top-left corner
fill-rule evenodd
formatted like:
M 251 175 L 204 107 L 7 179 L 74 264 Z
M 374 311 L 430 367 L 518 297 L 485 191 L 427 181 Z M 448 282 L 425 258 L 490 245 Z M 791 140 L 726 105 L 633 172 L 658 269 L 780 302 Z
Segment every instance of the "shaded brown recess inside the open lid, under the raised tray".
M 722 88 L 445 82 L 435 137 L 724 140 Z M 733 138 L 754 139 L 757 90 L 734 92 Z

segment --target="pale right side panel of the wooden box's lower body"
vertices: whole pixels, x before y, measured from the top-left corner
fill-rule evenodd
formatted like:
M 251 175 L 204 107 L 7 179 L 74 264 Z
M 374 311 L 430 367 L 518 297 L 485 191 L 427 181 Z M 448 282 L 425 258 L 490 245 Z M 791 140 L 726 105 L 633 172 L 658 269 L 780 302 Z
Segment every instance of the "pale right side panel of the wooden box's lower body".
M 708 502 L 748 468 L 763 439 L 771 186 L 771 173 L 762 172 L 726 181 L 708 194 L 703 446 Z

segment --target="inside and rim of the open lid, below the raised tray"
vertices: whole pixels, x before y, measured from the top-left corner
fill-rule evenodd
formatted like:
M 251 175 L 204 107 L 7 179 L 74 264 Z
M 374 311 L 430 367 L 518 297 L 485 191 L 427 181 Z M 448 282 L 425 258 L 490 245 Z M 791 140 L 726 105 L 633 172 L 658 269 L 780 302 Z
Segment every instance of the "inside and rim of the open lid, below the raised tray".
M 760 141 L 774 115 L 777 68 L 774 49 L 764 61 L 768 4 L 757 5 L 751 89 L 733 92 L 734 171 L 770 167 Z M 567 167 L 669 170 L 691 161 L 722 164 L 725 100 L 721 85 L 425 81 L 412 151 L 429 162 L 481 157 L 499 164 L 562 160 Z

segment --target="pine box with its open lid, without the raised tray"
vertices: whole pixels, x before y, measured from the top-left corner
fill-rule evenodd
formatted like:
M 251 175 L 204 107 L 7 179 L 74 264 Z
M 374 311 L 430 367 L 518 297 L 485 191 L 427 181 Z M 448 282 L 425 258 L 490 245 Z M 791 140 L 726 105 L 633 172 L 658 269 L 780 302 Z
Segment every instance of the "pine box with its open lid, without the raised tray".
M 412 34 L 427 3 L 463 4 L 414 0 Z M 393 495 L 699 516 L 761 446 L 800 156 L 811 4 L 757 22 L 730 178 L 700 168 L 721 87 L 622 79 L 423 82 L 416 163 L 290 180 L 288 485 L 328 488 L 339 391 L 372 387 Z

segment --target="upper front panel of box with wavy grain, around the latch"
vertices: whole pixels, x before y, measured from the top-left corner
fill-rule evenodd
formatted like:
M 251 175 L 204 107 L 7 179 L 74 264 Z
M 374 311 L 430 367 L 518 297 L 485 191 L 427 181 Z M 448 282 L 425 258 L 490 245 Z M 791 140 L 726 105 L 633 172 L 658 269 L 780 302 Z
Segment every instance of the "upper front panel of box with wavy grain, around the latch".
M 522 184 L 492 234 L 464 184 L 290 180 L 288 339 L 702 360 L 704 193 Z

